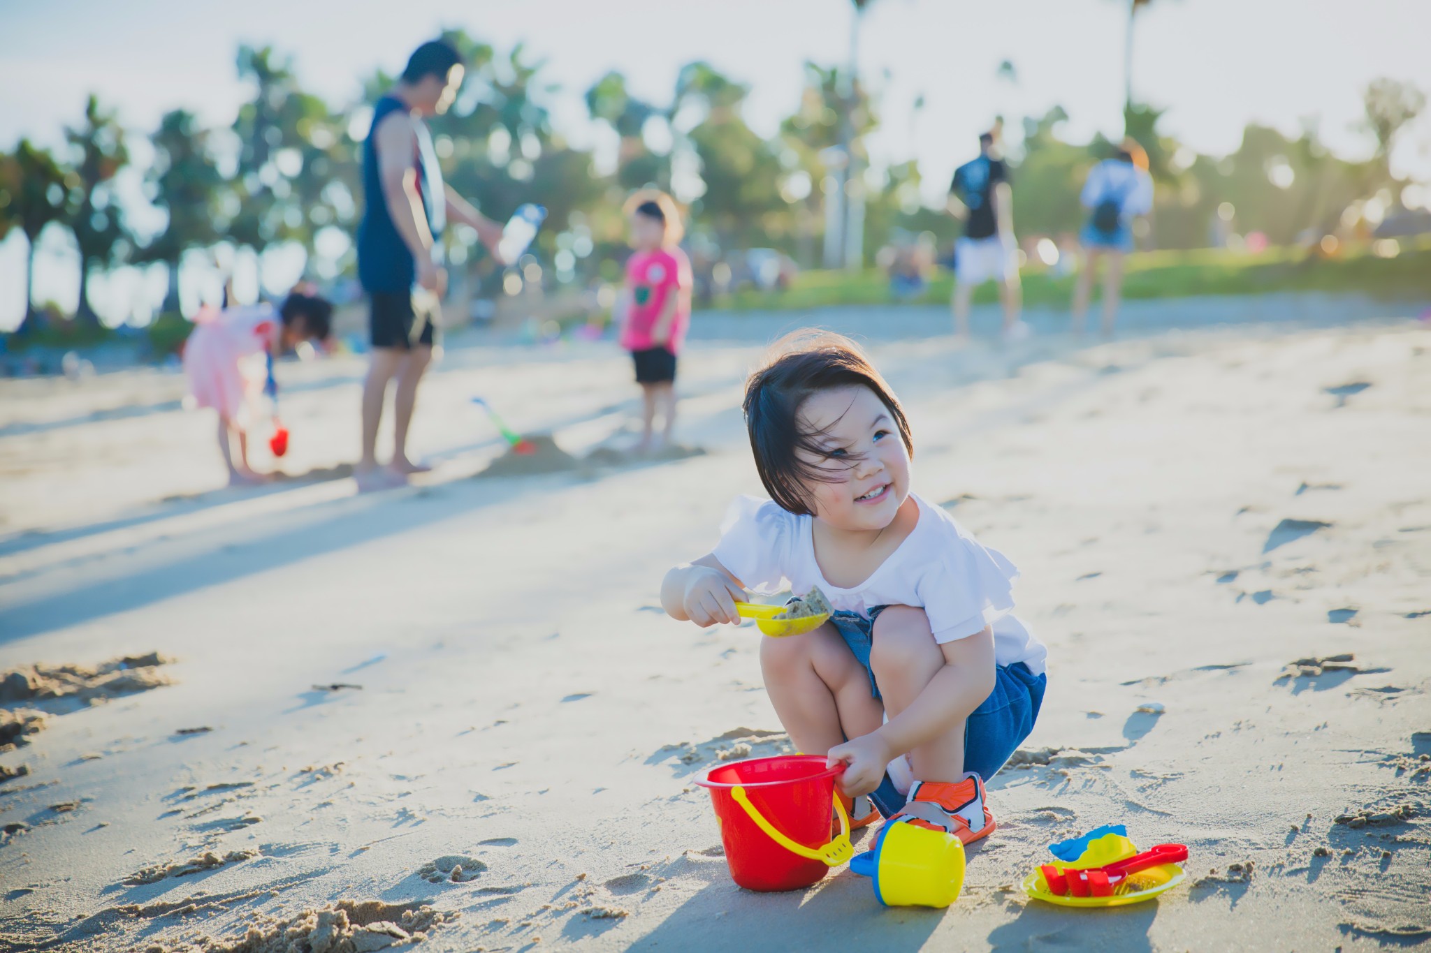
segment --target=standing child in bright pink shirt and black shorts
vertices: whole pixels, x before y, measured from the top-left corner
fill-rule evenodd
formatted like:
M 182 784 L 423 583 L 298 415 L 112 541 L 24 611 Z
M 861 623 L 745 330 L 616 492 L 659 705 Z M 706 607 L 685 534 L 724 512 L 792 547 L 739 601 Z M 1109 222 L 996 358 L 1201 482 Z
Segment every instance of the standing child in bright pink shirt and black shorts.
M 680 209 L 664 191 L 643 190 L 627 201 L 631 246 L 625 289 L 617 301 L 621 346 L 631 351 L 641 384 L 643 414 L 638 453 L 651 450 L 655 414 L 661 413 L 660 447 L 675 427 L 675 361 L 691 321 L 691 261 L 680 249 Z

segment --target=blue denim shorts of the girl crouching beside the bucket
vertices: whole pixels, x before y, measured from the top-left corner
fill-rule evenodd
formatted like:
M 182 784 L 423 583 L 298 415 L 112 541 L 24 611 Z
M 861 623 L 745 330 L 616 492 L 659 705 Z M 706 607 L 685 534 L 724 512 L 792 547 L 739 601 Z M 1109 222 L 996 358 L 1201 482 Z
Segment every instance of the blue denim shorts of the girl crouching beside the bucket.
M 870 647 L 874 644 L 874 620 L 884 609 L 886 606 L 876 606 L 869 619 L 853 612 L 837 612 L 830 619 L 844 644 L 864 666 L 864 673 L 870 677 L 870 693 L 876 699 L 880 697 L 880 686 L 870 669 Z M 964 720 L 966 772 L 977 772 L 987 780 L 1003 767 L 1033 730 L 1047 683 L 1047 676 L 1033 674 L 1022 662 L 995 669 L 993 692 Z

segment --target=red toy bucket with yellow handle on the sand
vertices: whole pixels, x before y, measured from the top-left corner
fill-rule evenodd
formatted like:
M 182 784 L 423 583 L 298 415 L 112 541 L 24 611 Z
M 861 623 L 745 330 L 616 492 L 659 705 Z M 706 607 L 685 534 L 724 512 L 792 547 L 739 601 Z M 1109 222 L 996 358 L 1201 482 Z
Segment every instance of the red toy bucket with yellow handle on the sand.
M 798 890 L 854 854 L 850 819 L 834 793 L 843 764 L 821 754 L 781 754 L 717 764 L 695 780 L 710 789 L 730 876 L 747 890 Z M 840 830 L 830 830 L 839 812 Z

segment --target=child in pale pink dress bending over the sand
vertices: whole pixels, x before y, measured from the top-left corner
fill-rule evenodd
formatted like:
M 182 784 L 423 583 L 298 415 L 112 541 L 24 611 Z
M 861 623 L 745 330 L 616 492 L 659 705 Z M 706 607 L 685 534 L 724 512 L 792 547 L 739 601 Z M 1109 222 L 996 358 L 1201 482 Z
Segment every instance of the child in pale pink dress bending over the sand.
M 293 291 L 279 307 L 252 304 L 202 309 L 183 347 L 183 370 L 190 403 L 219 411 L 219 453 L 229 483 L 260 483 L 249 466 L 248 431 L 253 403 L 273 373 L 273 359 L 306 340 L 326 340 L 333 306 Z M 233 444 L 238 443 L 238 456 Z

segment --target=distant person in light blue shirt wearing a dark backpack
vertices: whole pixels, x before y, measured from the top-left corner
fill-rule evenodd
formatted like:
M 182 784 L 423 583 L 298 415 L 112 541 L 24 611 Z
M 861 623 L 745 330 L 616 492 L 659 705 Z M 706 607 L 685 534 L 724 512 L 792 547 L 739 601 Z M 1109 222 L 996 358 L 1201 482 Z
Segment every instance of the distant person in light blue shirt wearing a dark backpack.
M 1083 333 L 1098 261 L 1106 257 L 1103 337 L 1112 337 L 1123 293 L 1123 256 L 1133 250 L 1133 220 L 1153 207 L 1153 180 L 1148 174 L 1148 153 L 1142 146 L 1125 139 L 1112 159 L 1093 166 L 1083 183 L 1080 201 L 1092 214 L 1079 233 L 1086 260 L 1073 289 L 1072 330 L 1075 334 Z

